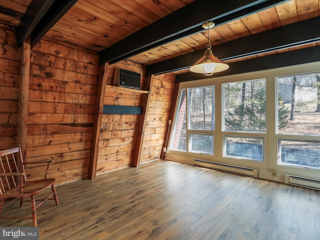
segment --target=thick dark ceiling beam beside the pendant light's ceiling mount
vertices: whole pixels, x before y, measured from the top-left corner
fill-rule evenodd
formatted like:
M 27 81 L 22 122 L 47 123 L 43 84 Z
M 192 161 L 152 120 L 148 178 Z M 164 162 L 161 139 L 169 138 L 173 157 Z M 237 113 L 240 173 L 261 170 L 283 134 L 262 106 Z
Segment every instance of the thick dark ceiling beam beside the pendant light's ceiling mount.
M 154 47 L 203 31 L 202 23 L 224 24 L 288 0 L 195 0 L 132 33 L 99 54 L 99 64 L 134 56 Z

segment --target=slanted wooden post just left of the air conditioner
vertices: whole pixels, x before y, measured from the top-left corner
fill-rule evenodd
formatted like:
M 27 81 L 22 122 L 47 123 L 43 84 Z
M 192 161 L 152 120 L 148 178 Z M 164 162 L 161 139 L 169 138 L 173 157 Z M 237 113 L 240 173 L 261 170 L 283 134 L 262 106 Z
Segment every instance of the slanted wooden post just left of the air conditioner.
M 90 151 L 90 162 L 88 168 L 88 177 L 89 179 L 95 178 L 96 173 L 96 164 L 98 158 L 98 150 L 99 150 L 99 139 L 100 139 L 100 129 L 101 129 L 101 121 L 103 114 L 103 102 L 104 102 L 104 94 L 105 94 L 105 85 L 108 76 L 109 63 L 104 63 L 100 65 L 99 69 L 99 79 L 98 79 L 98 87 L 96 90 L 96 98 L 95 98 L 95 111 L 93 118 L 93 127 L 92 127 L 92 136 L 91 136 L 91 151 Z

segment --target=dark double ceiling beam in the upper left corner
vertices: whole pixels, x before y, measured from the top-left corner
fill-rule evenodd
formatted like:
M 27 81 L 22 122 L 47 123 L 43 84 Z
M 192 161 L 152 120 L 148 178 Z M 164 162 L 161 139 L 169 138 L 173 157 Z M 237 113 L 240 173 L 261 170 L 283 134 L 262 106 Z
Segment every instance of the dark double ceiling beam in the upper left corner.
M 32 0 L 17 28 L 17 46 L 31 37 L 33 47 L 77 0 Z

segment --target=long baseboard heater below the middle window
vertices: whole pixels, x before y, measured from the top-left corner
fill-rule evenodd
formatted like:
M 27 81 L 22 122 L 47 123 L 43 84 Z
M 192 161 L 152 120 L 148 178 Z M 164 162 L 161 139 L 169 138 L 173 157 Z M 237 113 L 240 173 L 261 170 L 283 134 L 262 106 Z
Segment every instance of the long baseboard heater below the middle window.
M 214 169 L 214 170 L 237 173 L 237 174 L 241 174 L 241 175 L 245 175 L 245 176 L 258 177 L 258 170 L 257 169 L 252 169 L 252 168 L 247 168 L 247 167 L 223 164 L 223 163 L 212 162 L 212 161 L 204 161 L 204 160 L 195 159 L 195 158 L 193 159 L 193 165 L 206 167 L 206 168 L 210 168 L 210 169 Z

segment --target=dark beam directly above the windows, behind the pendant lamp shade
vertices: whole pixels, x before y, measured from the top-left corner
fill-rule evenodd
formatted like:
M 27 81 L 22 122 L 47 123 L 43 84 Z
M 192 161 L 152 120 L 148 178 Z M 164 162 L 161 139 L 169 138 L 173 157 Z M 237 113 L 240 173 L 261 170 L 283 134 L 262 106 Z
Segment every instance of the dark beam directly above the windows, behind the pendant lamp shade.
M 232 62 L 229 64 L 230 67 L 227 70 L 213 73 L 211 76 L 205 76 L 203 74 L 194 72 L 178 74 L 176 75 L 175 82 L 192 81 L 210 77 L 226 76 L 315 62 L 320 60 L 319 55 L 320 46 L 302 48 L 298 50 Z

